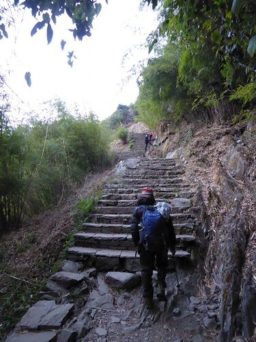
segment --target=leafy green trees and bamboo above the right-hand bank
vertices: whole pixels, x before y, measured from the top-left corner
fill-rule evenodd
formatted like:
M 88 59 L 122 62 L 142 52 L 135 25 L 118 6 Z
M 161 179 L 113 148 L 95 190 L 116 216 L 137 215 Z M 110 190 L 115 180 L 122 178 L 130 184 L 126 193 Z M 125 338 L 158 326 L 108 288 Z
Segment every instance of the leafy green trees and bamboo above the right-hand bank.
M 163 116 L 177 120 L 192 108 L 194 116 L 203 111 L 213 120 L 218 111 L 220 119 L 237 114 L 231 101 L 242 107 L 242 118 L 256 98 L 255 18 L 250 0 L 160 1 L 150 44 L 158 57 L 141 74 L 139 118 L 154 127 Z

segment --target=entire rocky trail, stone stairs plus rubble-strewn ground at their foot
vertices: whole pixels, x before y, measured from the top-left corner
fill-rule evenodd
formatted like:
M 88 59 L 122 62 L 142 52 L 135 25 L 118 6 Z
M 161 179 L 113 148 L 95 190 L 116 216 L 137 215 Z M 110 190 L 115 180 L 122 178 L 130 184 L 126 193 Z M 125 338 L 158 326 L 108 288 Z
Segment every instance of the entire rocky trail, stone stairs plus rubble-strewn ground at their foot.
M 218 297 L 211 287 L 203 293 L 197 287 L 201 222 L 191 200 L 193 185 L 174 159 L 143 157 L 143 148 L 143 134 L 134 133 L 134 147 L 116 167 L 121 175 L 106 185 L 60 272 L 6 341 L 216 341 Z M 169 258 L 168 301 L 154 299 L 152 310 L 142 304 L 139 256 L 130 235 L 143 187 L 153 187 L 156 200 L 171 203 L 178 241 L 175 264 Z

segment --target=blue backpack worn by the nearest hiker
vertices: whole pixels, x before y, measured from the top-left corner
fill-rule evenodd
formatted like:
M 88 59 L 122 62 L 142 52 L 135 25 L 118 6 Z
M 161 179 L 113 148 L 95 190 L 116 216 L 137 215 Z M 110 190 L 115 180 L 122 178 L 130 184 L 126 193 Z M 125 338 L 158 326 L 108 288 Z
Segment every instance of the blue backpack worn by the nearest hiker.
M 166 221 L 153 206 L 146 206 L 142 215 L 142 229 L 139 231 L 140 243 L 145 250 L 160 252 L 166 246 Z

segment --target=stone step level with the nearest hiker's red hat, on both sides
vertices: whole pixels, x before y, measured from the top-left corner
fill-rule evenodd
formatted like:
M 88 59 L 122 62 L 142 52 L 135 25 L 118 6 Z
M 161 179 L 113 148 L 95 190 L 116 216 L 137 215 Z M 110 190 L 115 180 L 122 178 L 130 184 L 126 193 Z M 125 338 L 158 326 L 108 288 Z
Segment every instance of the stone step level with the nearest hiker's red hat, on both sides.
M 102 200 L 137 200 L 139 198 L 139 195 L 141 194 L 141 191 L 138 191 L 137 193 L 131 193 L 126 194 L 126 191 L 120 191 L 115 192 L 113 190 L 108 190 L 104 192 L 104 195 L 102 196 Z M 156 198 L 156 201 L 161 200 L 169 200 L 171 198 L 176 197 L 182 197 L 182 198 L 190 198 L 194 192 L 184 192 L 184 191 L 176 191 L 176 192 L 154 192 L 154 196 Z

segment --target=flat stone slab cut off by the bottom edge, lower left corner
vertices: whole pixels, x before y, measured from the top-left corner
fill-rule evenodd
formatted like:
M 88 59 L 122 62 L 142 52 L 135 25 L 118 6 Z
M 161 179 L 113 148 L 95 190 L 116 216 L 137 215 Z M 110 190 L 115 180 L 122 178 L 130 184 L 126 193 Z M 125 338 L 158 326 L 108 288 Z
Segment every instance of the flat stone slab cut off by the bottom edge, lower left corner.
M 53 342 L 56 341 L 57 332 L 42 331 L 42 332 L 13 332 L 5 342 Z

